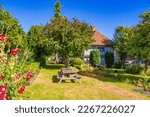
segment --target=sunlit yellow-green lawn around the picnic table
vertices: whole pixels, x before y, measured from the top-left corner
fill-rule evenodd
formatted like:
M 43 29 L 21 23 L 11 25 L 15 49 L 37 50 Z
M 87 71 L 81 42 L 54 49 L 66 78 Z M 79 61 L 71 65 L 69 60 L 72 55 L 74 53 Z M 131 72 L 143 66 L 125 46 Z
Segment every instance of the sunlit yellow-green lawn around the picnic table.
M 57 83 L 56 74 L 63 65 L 47 65 L 42 68 L 32 85 L 27 86 L 24 100 L 117 100 L 150 99 L 134 92 L 135 86 L 121 83 L 109 77 L 82 76 L 81 84 L 70 81 Z M 76 70 L 74 68 L 74 70 Z

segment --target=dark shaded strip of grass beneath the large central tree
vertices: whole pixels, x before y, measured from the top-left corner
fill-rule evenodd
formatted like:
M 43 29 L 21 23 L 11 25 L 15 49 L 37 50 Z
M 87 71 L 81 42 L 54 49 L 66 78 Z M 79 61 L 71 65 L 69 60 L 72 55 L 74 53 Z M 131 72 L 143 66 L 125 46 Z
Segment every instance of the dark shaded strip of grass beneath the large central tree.
M 63 64 L 48 64 L 48 65 L 45 65 L 43 68 L 48 69 L 48 70 L 59 70 L 63 67 L 64 67 Z

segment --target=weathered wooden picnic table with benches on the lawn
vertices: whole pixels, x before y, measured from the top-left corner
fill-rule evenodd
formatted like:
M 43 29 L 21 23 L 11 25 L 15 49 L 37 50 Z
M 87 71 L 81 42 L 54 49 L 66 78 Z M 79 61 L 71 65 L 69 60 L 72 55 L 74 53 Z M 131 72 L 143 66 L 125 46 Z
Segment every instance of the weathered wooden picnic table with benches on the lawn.
M 80 76 L 69 68 L 62 68 L 60 73 L 57 74 L 57 79 L 59 80 L 59 84 L 62 80 L 78 80 L 80 82 Z

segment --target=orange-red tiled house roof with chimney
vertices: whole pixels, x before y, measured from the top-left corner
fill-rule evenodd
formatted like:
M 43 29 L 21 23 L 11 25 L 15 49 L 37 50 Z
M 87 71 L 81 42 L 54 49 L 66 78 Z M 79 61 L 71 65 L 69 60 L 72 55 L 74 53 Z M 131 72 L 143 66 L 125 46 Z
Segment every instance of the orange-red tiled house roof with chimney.
M 91 45 L 111 46 L 113 44 L 112 40 L 108 39 L 103 34 L 98 32 L 95 27 L 93 27 L 93 31 L 94 42 Z

